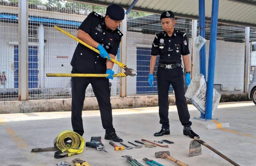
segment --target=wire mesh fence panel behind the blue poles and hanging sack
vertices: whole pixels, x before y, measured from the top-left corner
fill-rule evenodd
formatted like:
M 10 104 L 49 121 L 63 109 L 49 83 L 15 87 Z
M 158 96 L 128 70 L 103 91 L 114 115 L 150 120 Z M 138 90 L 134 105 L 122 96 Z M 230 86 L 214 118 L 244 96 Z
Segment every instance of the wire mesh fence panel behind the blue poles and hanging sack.
M 206 22 L 206 71 L 208 71 L 210 28 L 211 23 Z M 219 23 L 217 32 L 214 88 L 220 93 L 243 93 L 245 27 Z M 197 56 L 196 74 L 200 73 L 199 70 L 199 56 Z M 207 72 L 205 79 L 207 81 Z

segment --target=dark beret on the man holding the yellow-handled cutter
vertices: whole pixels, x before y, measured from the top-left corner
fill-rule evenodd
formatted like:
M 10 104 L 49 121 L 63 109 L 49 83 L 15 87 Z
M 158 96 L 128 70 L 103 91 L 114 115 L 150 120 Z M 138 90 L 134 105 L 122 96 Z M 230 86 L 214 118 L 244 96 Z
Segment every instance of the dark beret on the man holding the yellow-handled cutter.
M 110 17 L 113 20 L 120 21 L 124 19 L 124 9 L 117 5 L 112 4 L 107 7 L 106 16 Z

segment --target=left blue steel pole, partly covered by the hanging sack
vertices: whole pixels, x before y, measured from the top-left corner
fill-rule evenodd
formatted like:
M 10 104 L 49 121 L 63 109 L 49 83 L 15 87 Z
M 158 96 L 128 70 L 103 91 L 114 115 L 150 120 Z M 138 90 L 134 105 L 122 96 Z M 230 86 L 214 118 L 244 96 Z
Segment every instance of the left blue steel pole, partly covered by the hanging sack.
M 200 36 L 205 38 L 205 6 L 204 0 L 199 0 L 199 32 Z M 200 52 L 200 73 L 204 75 L 206 80 L 206 67 L 205 67 L 205 44 L 201 48 Z M 200 118 L 205 119 L 205 115 L 201 113 Z

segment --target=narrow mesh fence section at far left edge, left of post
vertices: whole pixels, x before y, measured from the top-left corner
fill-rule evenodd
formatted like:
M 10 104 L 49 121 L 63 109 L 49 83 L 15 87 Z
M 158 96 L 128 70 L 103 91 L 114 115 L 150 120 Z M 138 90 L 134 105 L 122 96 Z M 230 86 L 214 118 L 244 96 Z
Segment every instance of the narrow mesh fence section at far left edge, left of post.
M 18 3 L 0 1 L 0 101 L 18 100 Z

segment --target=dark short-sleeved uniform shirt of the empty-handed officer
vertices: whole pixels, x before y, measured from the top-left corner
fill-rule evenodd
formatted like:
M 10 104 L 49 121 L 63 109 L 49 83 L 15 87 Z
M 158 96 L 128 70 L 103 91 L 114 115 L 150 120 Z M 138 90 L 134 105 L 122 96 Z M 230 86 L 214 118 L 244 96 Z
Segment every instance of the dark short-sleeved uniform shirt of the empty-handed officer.
M 151 54 L 160 55 L 163 64 L 181 63 L 181 55 L 189 54 L 186 33 L 174 29 L 171 37 L 165 31 L 156 34 Z

